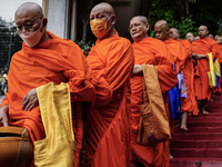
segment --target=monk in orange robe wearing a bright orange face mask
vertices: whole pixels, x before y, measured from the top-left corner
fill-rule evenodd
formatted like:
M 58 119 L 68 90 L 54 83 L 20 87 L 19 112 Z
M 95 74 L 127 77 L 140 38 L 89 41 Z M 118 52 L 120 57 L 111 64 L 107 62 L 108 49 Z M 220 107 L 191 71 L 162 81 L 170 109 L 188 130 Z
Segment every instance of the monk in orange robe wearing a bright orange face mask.
M 112 95 L 95 101 L 87 111 L 85 166 L 127 167 L 130 163 L 131 105 L 130 77 L 134 65 L 131 42 L 114 28 L 117 17 L 112 6 L 102 2 L 90 12 L 90 27 L 97 37 L 88 62 L 92 72 L 102 76 Z

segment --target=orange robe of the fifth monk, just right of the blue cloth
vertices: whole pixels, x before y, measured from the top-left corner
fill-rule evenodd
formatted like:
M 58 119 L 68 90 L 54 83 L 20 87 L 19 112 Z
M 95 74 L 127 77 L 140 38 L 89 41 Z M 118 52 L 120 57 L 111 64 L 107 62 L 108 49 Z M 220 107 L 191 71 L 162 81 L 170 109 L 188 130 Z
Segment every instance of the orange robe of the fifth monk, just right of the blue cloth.
M 195 100 L 195 92 L 193 89 L 194 70 L 192 62 L 192 47 L 188 40 L 179 39 L 185 49 L 186 59 L 184 63 L 184 69 L 182 70 L 185 80 L 185 88 L 188 98 L 181 97 L 181 112 L 189 111 L 193 115 L 198 115 L 198 104 Z

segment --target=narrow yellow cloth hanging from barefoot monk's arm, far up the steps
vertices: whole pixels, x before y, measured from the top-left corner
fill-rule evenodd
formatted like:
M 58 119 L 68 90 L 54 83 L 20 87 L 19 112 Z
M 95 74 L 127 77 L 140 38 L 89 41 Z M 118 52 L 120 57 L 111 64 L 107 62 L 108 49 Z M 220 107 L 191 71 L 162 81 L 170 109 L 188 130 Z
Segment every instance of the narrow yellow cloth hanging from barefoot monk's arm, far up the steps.
M 212 52 L 208 53 L 209 56 L 209 67 L 210 67 L 210 71 L 208 72 L 208 77 L 209 77 L 209 86 L 211 88 L 215 87 L 215 75 L 214 75 L 214 67 L 213 67 L 213 56 Z

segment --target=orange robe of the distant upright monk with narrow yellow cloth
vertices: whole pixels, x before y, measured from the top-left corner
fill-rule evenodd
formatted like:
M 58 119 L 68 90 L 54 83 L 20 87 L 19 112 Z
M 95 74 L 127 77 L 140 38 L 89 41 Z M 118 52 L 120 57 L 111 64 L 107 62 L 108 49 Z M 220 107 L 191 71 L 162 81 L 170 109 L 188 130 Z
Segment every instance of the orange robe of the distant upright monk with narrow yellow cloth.
M 203 100 L 206 99 L 212 91 L 209 89 L 208 71 L 210 69 L 209 69 L 208 53 L 212 52 L 213 59 L 215 60 L 215 57 L 219 52 L 218 45 L 213 39 L 203 38 L 192 42 L 192 50 L 198 55 L 205 55 L 206 57 L 196 60 L 199 75 L 195 75 L 194 77 L 195 97 L 198 100 Z

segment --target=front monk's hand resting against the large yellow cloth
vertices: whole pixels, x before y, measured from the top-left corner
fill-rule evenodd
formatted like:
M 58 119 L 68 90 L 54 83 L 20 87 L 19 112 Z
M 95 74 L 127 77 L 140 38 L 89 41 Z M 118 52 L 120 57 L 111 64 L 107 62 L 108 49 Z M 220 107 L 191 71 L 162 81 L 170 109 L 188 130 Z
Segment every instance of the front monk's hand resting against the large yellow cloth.
M 22 99 L 21 109 L 26 111 L 32 110 L 34 107 L 39 106 L 39 100 L 37 96 L 37 88 L 31 89 Z

